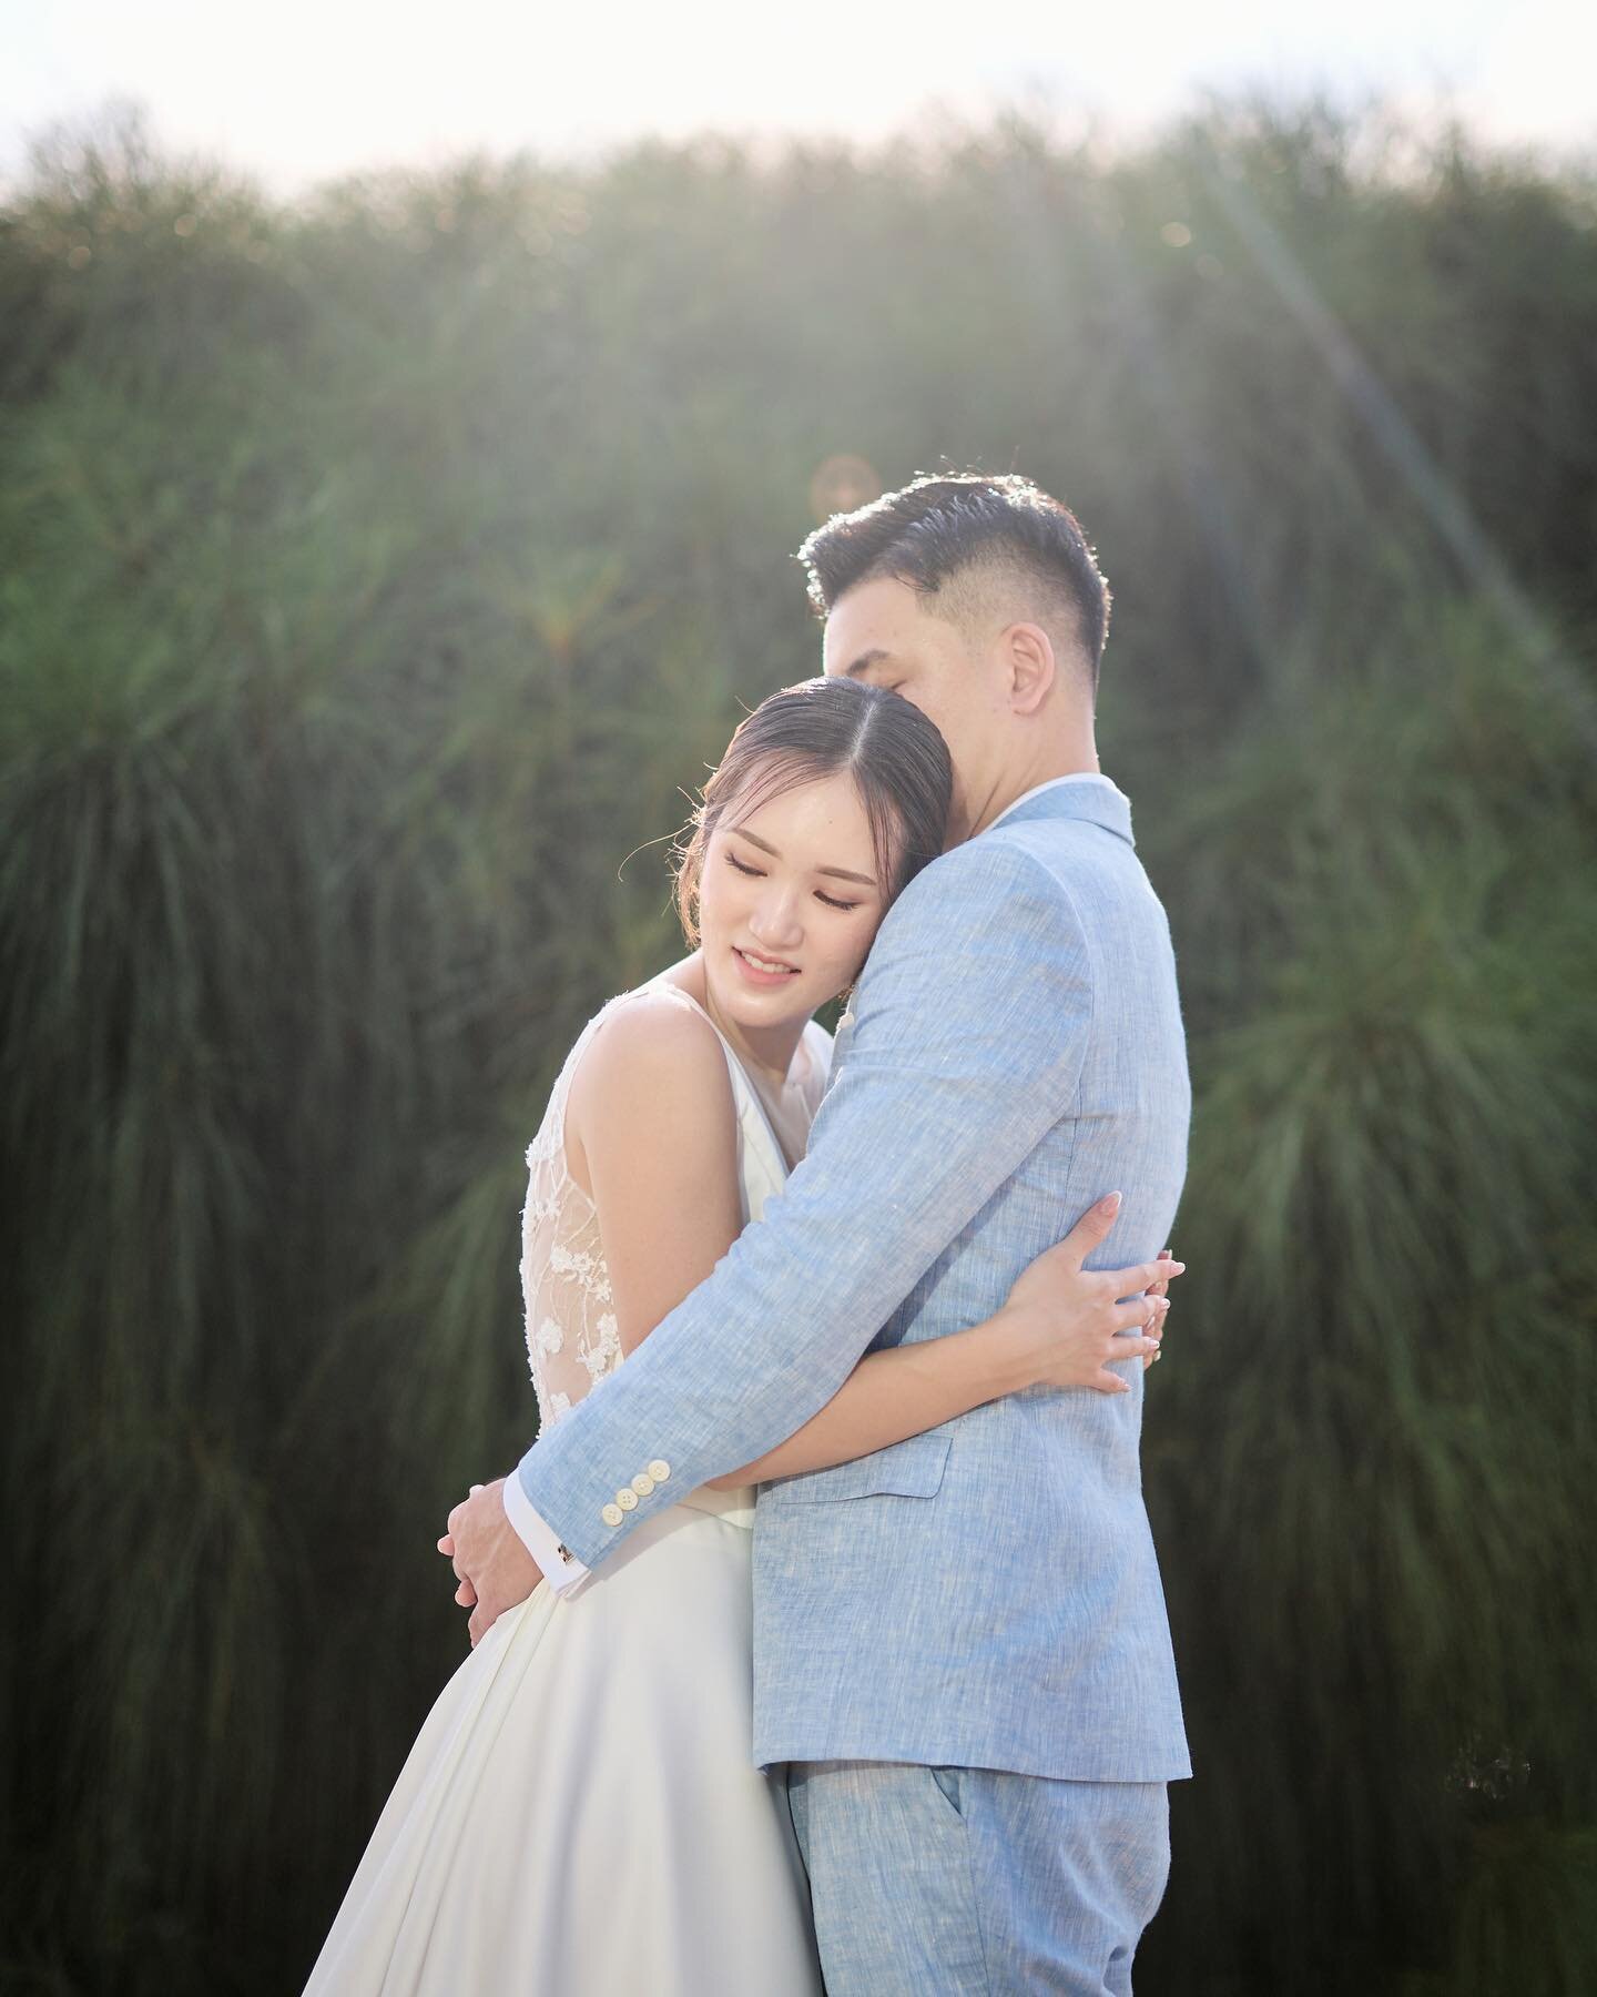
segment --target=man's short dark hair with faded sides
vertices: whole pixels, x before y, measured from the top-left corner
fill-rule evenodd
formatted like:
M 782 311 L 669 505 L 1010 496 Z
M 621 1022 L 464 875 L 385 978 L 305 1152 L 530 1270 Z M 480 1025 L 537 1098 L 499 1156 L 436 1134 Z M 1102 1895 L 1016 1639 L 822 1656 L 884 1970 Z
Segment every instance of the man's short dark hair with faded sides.
M 1074 643 L 1098 685 L 1110 587 L 1070 507 L 1018 473 L 918 477 L 836 513 L 798 559 L 822 617 L 846 589 L 888 575 L 934 613 L 964 617 L 982 601 L 1000 615 L 1030 617 Z

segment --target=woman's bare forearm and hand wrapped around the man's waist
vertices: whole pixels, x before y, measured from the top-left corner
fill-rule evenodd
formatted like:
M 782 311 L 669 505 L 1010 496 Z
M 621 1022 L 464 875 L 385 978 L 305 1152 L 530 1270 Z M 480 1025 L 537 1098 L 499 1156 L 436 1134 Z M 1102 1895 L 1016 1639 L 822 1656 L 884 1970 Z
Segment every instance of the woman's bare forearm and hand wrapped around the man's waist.
M 737 1490 L 800 1470 L 830 1470 L 1028 1386 L 1130 1394 L 1128 1382 L 1108 1368 L 1124 1360 L 1152 1362 L 1170 1302 L 1144 1294 L 1152 1280 L 1146 1264 L 1132 1270 L 1082 1268 L 1114 1224 L 1114 1206 L 1092 1206 L 1066 1240 L 1032 1262 L 994 1316 L 968 1332 L 866 1352 L 832 1400 L 797 1434 L 743 1470 L 713 1478 L 713 1486 Z M 1162 1262 L 1162 1280 L 1184 1266 Z M 1128 1302 L 1118 1302 L 1122 1296 Z M 1124 1336 L 1144 1324 L 1152 1324 L 1154 1336 Z

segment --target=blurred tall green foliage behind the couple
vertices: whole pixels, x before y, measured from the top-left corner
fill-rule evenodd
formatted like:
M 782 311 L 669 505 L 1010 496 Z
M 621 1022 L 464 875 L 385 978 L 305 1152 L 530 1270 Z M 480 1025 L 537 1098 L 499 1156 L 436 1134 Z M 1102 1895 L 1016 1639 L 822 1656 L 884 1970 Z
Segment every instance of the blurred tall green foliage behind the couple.
M 299 1987 L 531 1432 L 523 1146 L 677 947 L 621 863 L 942 463 L 1098 539 L 1192 1030 L 1138 1987 L 1597 1989 L 1597 178 L 1232 104 L 6 198 L 8 1991 Z

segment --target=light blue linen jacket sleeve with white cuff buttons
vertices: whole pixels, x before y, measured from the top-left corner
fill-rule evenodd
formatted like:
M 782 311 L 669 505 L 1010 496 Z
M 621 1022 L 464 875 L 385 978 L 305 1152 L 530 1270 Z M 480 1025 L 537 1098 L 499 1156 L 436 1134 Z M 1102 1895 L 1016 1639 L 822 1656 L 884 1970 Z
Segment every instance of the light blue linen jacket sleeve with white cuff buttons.
M 521 1488 L 589 1568 L 842 1386 L 876 1330 L 1068 1114 L 1092 1012 L 1068 895 L 1002 831 L 888 913 L 806 1158 L 765 1218 L 603 1386 L 527 1452 Z M 1074 1218 L 1074 1216 L 1070 1216 Z M 621 1522 L 617 1494 L 669 1478 Z

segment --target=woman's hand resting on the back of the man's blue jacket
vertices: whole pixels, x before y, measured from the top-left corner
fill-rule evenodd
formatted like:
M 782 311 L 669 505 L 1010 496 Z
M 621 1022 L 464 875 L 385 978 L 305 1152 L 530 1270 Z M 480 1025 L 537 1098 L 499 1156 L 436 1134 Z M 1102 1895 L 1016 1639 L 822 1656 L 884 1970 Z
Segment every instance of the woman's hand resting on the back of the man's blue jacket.
M 1152 1366 L 1170 1310 L 1172 1278 L 1186 1270 L 1166 1248 L 1156 1262 L 1132 1268 L 1082 1268 L 1114 1226 L 1120 1194 L 1092 1206 L 1066 1238 L 1044 1250 L 1010 1290 L 996 1324 L 1014 1342 L 1028 1386 L 1090 1386 L 1130 1394 L 1110 1372 L 1124 1360 Z M 1138 1336 L 1126 1336 L 1136 1332 Z

